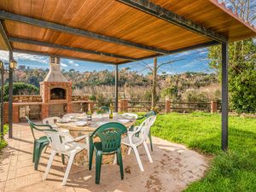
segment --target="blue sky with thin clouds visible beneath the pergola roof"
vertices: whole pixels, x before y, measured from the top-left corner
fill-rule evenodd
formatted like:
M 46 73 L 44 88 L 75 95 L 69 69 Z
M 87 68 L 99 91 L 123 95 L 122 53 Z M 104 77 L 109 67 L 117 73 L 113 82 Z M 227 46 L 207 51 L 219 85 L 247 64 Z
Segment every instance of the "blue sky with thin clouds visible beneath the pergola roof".
M 7 61 L 9 58 L 9 53 L 7 51 L 0 51 L 0 60 Z M 32 68 L 48 68 L 49 67 L 49 58 L 47 56 L 39 56 L 39 55 L 26 55 L 15 53 L 15 60 L 18 62 L 18 65 L 24 65 L 26 67 Z M 183 72 L 205 72 L 210 73 L 212 70 L 208 67 L 207 61 L 207 49 L 197 49 L 191 50 L 183 53 L 179 53 L 176 55 L 166 55 L 158 58 L 158 62 L 166 62 L 166 61 L 181 61 L 174 62 L 172 64 L 168 64 L 164 67 L 160 68 L 160 73 L 183 73 Z M 153 65 L 153 59 L 145 60 L 148 65 Z M 127 63 L 124 65 L 120 65 L 119 68 L 130 67 L 132 71 L 137 71 L 138 73 L 148 73 L 149 70 L 143 66 L 143 62 L 136 61 Z M 84 71 L 101 71 L 101 70 L 113 70 L 114 67 L 112 65 L 100 64 L 95 62 L 87 62 L 87 61 L 75 61 L 75 60 L 67 60 L 61 59 L 61 69 L 69 70 L 75 69 L 76 71 L 84 72 Z

